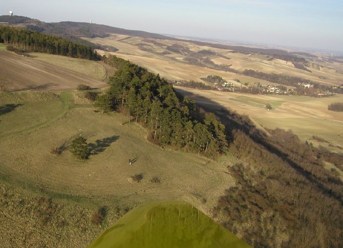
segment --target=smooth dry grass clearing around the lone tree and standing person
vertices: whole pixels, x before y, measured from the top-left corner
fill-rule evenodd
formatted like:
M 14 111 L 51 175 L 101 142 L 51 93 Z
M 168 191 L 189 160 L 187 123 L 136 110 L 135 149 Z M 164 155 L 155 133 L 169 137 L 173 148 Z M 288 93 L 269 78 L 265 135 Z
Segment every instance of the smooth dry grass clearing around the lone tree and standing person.
M 197 191 L 213 203 L 224 191 L 224 185 L 231 184 L 230 176 L 221 166 L 193 154 L 167 151 L 148 143 L 145 131 L 134 122 L 122 125 L 119 114 L 94 113 L 92 105 L 75 107 L 64 115 L 57 112 L 55 117 L 59 118 L 51 116 L 53 122 L 38 125 L 37 129 L 32 122 L 22 128 L 15 119 L 19 112 L 6 114 L 12 115 L 8 119 L 11 128 L 22 130 L 22 134 L 16 135 L 8 126 L 7 135 L 0 142 L 0 163 L 25 177 L 39 179 L 52 191 L 73 195 L 114 194 L 128 201 L 169 198 L 194 201 L 191 195 Z M 48 103 L 45 108 L 41 105 L 42 122 L 46 123 L 45 118 L 49 115 L 45 110 L 49 112 L 50 108 Z M 6 115 L 0 119 L 7 118 Z M 29 132 L 25 131 L 27 128 Z M 87 138 L 87 143 L 93 144 L 95 151 L 87 161 L 76 161 L 69 152 L 62 152 L 60 156 L 50 153 L 55 144 L 63 144 L 80 132 Z M 127 162 L 129 158 L 136 158 L 131 166 Z M 162 183 L 157 189 L 149 181 L 142 181 L 139 186 L 127 181 L 131 175 L 139 173 L 144 178 L 159 175 Z

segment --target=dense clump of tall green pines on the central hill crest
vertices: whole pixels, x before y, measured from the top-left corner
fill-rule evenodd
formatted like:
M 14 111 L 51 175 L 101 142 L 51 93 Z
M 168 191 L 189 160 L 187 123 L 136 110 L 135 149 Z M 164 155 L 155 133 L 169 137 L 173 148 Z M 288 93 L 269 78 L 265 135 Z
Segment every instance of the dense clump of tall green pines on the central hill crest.
M 149 140 L 161 146 L 208 157 L 226 150 L 225 126 L 214 114 L 201 114 L 194 101 L 178 97 L 158 74 L 115 56 L 106 62 L 117 70 L 110 78 L 110 89 L 98 97 L 97 106 L 127 112 L 148 129 Z

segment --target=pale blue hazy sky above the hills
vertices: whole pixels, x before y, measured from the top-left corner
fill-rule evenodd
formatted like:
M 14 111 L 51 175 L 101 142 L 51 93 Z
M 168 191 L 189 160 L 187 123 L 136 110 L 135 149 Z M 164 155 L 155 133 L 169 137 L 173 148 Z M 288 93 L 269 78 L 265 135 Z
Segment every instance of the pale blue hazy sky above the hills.
M 10 0 L 0 15 L 343 52 L 343 0 Z

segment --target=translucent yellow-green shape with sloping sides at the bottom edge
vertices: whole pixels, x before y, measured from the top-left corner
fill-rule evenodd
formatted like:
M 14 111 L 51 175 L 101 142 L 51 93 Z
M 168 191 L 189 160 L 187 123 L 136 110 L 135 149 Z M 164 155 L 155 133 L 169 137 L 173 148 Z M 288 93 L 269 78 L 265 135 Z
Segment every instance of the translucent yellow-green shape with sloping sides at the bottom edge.
M 151 202 L 128 212 L 89 248 L 250 247 L 186 202 Z

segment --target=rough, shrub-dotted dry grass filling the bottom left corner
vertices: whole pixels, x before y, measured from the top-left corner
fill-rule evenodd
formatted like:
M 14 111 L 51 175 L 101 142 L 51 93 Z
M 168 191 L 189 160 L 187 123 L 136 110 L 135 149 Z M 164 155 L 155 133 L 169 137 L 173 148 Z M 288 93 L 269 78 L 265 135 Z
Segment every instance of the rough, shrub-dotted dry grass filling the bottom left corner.
M 27 181 L 20 185 L 20 178 L 9 186 L 2 180 L 3 171 L 0 175 L 1 247 L 86 247 L 119 217 L 114 207 L 109 208 L 103 225 L 96 226 L 91 220 L 98 203 L 93 199 L 36 192 Z

